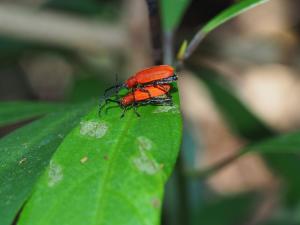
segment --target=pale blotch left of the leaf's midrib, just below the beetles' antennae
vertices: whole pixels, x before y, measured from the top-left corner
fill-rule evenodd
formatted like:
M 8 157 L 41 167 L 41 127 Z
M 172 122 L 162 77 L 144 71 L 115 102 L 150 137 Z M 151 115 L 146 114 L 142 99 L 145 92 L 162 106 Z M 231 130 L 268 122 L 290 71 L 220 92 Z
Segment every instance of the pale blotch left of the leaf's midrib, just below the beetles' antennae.
M 82 121 L 80 123 L 80 134 L 93 138 L 102 138 L 107 132 L 108 126 L 104 122 Z

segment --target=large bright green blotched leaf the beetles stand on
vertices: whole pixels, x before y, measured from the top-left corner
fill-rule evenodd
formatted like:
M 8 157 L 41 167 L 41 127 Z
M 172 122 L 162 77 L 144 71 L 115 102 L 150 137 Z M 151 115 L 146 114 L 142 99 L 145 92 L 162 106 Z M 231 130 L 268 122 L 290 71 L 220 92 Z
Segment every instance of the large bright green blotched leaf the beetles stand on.
M 91 111 L 64 140 L 24 207 L 19 225 L 159 224 L 164 185 L 182 132 L 173 106 Z

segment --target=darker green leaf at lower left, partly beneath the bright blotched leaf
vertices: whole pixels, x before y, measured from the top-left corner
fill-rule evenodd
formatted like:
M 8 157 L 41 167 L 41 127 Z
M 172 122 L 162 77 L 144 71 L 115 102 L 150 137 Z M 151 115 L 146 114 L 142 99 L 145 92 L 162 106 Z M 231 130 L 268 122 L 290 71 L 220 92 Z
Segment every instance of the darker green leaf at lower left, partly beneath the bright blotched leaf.
M 50 114 L 0 140 L 0 218 L 9 225 L 66 134 L 89 107 Z

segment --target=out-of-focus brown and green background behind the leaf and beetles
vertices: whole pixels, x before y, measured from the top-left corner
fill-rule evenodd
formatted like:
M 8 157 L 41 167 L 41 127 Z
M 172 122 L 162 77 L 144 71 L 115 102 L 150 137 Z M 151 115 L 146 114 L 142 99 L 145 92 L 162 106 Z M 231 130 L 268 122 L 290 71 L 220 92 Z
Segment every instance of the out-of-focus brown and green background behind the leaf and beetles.
M 178 2 L 162 2 L 164 32 L 157 31 L 166 42 L 172 33 L 173 53 L 238 1 Z M 299 7 L 271 0 L 225 23 L 178 73 L 184 135 L 162 224 L 300 224 L 296 150 L 251 153 L 201 173 L 248 143 L 299 129 Z M 126 79 L 161 54 L 148 14 L 142 0 L 0 1 L 0 100 L 99 98 L 116 73 Z M 21 125 L 1 127 L 0 135 Z M 300 149 L 298 139 L 288 144 Z

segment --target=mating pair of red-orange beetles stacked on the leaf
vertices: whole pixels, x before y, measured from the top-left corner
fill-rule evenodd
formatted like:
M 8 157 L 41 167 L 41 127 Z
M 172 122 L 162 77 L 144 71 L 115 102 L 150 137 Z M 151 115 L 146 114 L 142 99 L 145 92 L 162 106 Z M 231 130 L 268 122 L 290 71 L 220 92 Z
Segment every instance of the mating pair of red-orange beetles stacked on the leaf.
M 105 90 L 104 99 L 100 103 L 99 114 L 108 102 L 115 102 L 123 109 L 121 118 L 129 108 L 133 108 L 135 114 L 140 116 L 137 112 L 137 107 L 140 105 L 172 105 L 171 83 L 177 79 L 174 68 L 169 65 L 153 66 L 138 71 L 124 83 L 116 84 Z M 127 88 L 130 92 L 123 97 L 118 97 L 122 88 Z M 116 100 L 107 96 L 111 90 L 115 90 Z

